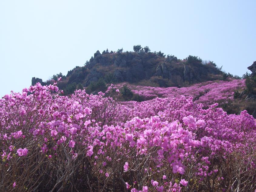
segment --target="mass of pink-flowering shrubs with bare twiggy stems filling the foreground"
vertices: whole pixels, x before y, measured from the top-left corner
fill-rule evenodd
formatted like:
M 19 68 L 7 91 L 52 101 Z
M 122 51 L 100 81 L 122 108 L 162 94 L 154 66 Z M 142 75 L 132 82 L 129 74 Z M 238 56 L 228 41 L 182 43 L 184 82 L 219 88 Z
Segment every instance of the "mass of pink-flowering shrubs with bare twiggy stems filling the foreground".
M 113 87 L 113 86 L 112 86 Z M 0 99 L 8 191 L 253 191 L 256 121 L 192 97 L 134 102 L 36 84 Z M 118 91 L 113 91 L 118 94 Z

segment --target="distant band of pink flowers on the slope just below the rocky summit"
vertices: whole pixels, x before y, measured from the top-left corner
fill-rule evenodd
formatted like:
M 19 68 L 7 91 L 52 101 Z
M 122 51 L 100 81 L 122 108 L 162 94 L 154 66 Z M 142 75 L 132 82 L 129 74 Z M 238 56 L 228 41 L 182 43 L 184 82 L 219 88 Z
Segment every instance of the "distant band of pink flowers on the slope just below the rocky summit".
M 123 83 L 124 84 L 124 83 Z M 118 84 L 116 87 L 121 88 L 123 84 Z M 245 80 L 234 79 L 229 81 L 207 81 L 194 84 L 190 87 L 146 87 L 128 85 L 134 94 L 138 94 L 144 100 L 153 98 L 185 98 L 193 97 L 195 103 L 202 103 L 205 106 L 209 104 L 219 103 L 220 105 L 227 104 L 234 99 L 234 91 L 245 87 Z M 134 102 L 128 102 L 131 104 Z

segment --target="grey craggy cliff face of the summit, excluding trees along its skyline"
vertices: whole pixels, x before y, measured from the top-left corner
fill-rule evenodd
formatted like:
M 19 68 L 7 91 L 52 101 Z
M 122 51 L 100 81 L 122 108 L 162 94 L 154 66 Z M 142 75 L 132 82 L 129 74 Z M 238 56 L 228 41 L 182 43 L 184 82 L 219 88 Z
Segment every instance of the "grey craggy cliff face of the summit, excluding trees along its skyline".
M 218 79 L 221 74 L 213 66 L 201 63 L 188 64 L 176 57 L 167 59 L 153 53 L 113 53 L 97 51 L 89 64 L 68 71 L 68 84 L 82 83 L 88 86 L 106 75 L 111 75 L 116 82 L 136 83 L 141 80 L 168 81 L 169 84 L 183 86 L 202 81 Z

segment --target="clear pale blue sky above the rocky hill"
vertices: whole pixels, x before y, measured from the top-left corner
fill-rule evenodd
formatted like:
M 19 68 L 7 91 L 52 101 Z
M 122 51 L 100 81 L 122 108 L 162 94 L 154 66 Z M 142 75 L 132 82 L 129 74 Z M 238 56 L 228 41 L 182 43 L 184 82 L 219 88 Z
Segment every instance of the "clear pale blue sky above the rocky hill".
M 83 66 L 108 48 L 149 46 L 214 61 L 234 75 L 256 60 L 256 1 L 0 1 L 0 96 Z

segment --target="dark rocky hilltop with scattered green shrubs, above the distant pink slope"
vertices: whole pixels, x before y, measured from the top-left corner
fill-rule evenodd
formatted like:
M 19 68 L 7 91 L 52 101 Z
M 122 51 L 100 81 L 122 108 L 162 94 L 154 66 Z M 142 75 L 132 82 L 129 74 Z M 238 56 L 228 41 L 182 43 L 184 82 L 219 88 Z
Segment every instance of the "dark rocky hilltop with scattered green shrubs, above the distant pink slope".
M 143 49 L 142 49 L 143 50 Z M 177 59 L 174 55 L 157 52 L 108 52 L 96 51 L 94 57 L 83 67 L 75 67 L 66 76 L 54 75 L 57 80 L 62 77 L 59 88 L 66 94 L 76 88 L 89 87 L 90 91 L 106 88 L 108 83 L 128 82 L 152 87 L 183 87 L 189 84 L 213 81 L 222 78 L 223 72 L 213 62 L 202 64 L 198 57 L 189 55 L 186 59 Z M 42 84 L 41 79 L 32 79 Z M 89 91 L 89 92 L 90 92 Z

